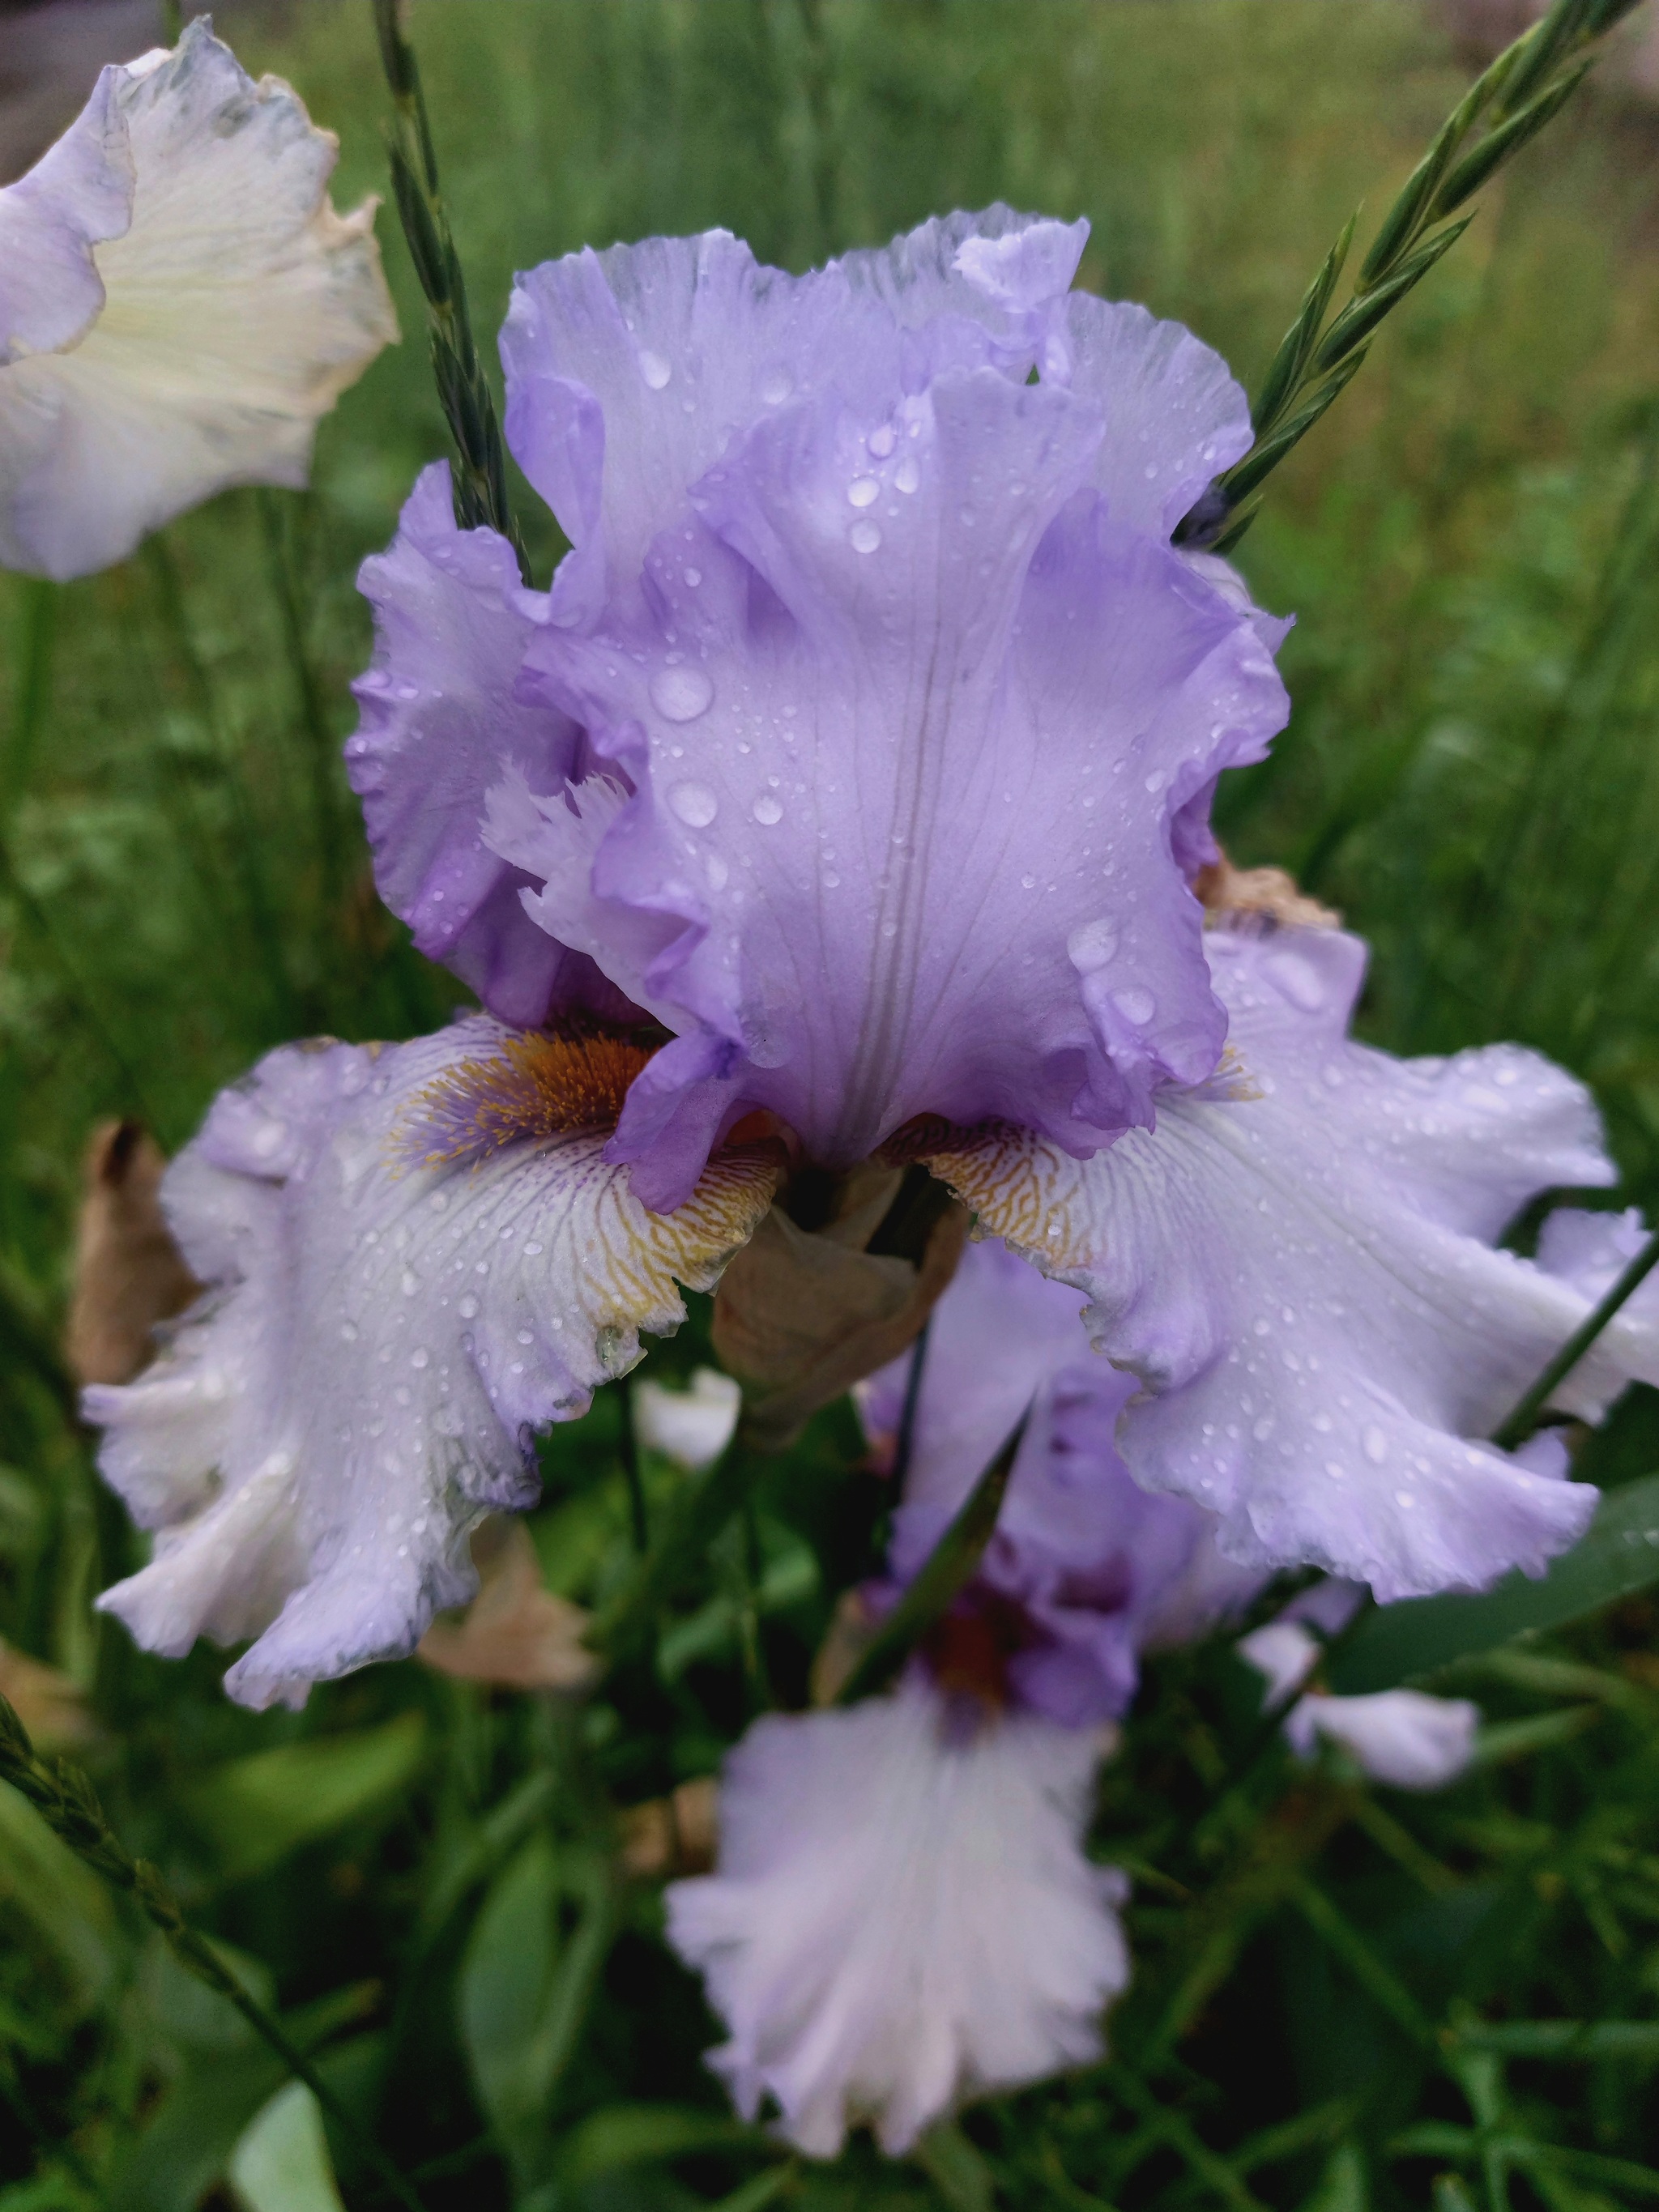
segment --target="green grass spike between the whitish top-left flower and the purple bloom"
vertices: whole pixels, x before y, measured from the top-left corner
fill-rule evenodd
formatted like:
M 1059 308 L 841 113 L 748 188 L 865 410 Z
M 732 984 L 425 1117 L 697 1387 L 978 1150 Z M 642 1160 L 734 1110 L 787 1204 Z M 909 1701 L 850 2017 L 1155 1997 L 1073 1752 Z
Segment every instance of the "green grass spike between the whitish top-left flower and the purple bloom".
M 456 522 L 498 531 L 518 555 L 518 573 L 531 582 L 531 562 L 507 500 L 507 447 L 495 416 L 495 396 L 484 378 L 473 327 L 467 316 L 467 285 L 449 230 L 449 212 L 438 190 L 438 155 L 420 91 L 420 69 L 405 29 L 403 0 L 374 0 L 380 62 L 392 88 L 394 119 L 387 124 L 392 195 L 398 201 L 403 237 L 409 246 L 420 290 L 427 296 L 427 334 L 438 403 L 456 440 Z

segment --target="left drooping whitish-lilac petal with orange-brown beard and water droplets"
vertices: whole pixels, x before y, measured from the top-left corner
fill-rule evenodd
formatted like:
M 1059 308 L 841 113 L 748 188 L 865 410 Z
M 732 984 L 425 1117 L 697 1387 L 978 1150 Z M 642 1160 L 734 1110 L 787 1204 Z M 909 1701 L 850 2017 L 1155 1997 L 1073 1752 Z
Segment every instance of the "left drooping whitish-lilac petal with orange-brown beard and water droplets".
M 467 1535 L 535 1498 L 533 1429 L 582 1413 L 765 1212 L 770 1146 L 648 1214 L 604 1141 L 630 1046 L 482 1015 L 383 1051 L 285 1046 L 219 1097 L 164 1197 L 208 1294 L 124 1389 L 100 1464 L 159 1531 L 108 1590 L 150 1650 L 254 1637 L 248 1705 L 411 1650 L 471 1595 Z

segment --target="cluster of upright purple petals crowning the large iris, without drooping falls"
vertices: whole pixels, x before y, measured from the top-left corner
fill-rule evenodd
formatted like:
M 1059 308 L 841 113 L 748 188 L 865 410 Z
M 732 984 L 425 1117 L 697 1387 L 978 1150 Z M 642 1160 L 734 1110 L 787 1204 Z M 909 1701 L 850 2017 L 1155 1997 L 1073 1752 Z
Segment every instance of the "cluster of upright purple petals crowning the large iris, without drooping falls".
M 546 263 L 502 361 L 553 591 L 440 471 L 365 568 L 380 889 L 502 1020 L 672 1031 L 611 1155 L 648 1206 L 752 1108 L 830 1168 L 918 1115 L 1084 1157 L 1217 1062 L 1186 876 L 1285 692 L 1168 538 L 1250 414 L 1179 325 L 1066 290 L 1084 234 Z

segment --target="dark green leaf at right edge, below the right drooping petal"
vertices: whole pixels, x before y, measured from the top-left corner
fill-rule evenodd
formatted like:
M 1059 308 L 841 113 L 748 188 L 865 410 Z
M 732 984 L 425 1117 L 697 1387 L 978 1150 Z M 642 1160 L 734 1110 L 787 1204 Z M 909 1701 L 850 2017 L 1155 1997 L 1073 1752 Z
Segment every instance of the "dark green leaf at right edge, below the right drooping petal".
M 1394 1690 L 1467 1652 L 1562 1628 L 1659 1582 L 1659 1475 L 1608 1491 L 1584 1537 L 1546 1575 L 1506 1575 L 1482 1597 L 1409 1597 L 1378 1606 L 1332 1650 L 1338 1697 Z

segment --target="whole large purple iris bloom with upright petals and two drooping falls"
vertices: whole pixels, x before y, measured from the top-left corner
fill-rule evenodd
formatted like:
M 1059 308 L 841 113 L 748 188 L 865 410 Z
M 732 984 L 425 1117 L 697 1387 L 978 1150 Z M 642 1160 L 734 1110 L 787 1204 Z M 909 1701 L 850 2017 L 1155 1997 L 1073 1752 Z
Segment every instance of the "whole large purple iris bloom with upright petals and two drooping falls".
M 1250 420 L 1188 332 L 1066 290 L 1082 241 L 993 208 L 799 279 L 723 232 L 520 279 L 507 431 L 571 553 L 524 591 L 427 471 L 347 745 L 383 896 L 489 1011 L 290 1046 L 175 1166 L 208 1296 L 88 1400 L 159 1533 L 106 1599 L 144 1644 L 257 1637 L 254 1703 L 407 1650 L 535 1427 L 801 1164 L 872 1152 L 1091 1298 L 1110 1367 L 1051 1380 L 1011 1502 L 1060 1533 L 987 1566 L 1053 1710 L 1133 1681 L 1139 1584 L 1077 1535 L 1108 1498 L 1378 1597 L 1582 1531 L 1588 1491 L 1480 1438 L 1588 1312 L 1495 1239 L 1610 1179 L 1595 1110 L 1506 1046 L 1352 1044 L 1352 938 L 1206 931 L 1281 626 L 1170 531 Z M 1632 1374 L 1646 1310 L 1564 1402 Z

